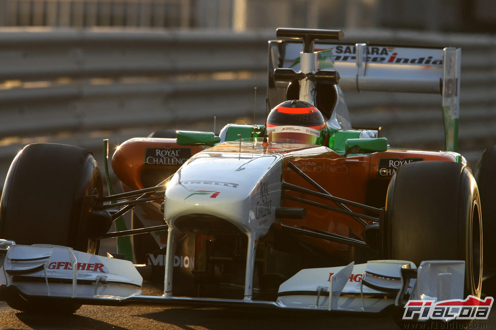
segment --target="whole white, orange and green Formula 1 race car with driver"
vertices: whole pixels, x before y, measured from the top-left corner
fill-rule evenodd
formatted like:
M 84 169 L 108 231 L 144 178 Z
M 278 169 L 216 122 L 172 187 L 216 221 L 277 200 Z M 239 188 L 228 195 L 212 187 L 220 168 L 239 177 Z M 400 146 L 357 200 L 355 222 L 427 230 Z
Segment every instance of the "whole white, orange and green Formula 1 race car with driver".
M 266 123 L 130 139 L 111 162 L 123 193 L 103 196 L 89 151 L 20 151 L 0 209 L 2 298 L 69 313 L 131 303 L 375 313 L 478 299 L 483 245 L 495 263 L 479 193 L 494 196 L 482 182 L 496 177 L 496 149 L 478 188 L 456 152 L 460 49 L 346 45 L 335 30 L 277 37 Z M 391 148 L 379 128 L 353 128 L 342 89 L 441 94 L 448 151 Z M 118 223 L 127 212 L 129 230 Z M 124 259 L 97 255 L 112 237 L 127 239 Z M 143 276 L 164 294 L 141 295 Z

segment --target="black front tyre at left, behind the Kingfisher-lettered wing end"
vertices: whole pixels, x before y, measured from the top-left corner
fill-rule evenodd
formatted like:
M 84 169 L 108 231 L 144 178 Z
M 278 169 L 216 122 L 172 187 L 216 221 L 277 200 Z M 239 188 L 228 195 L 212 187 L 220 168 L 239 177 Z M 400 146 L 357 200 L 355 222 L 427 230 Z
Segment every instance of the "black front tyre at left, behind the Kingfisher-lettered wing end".
M 89 151 L 61 144 L 27 145 L 7 174 L 0 237 L 17 244 L 63 245 L 97 253 L 99 241 L 91 237 L 106 225 L 96 223 L 98 217 L 91 213 L 96 198 L 85 196 L 101 197 L 102 190 L 101 172 Z M 80 307 L 30 302 L 14 293 L 8 303 L 29 312 L 73 313 Z

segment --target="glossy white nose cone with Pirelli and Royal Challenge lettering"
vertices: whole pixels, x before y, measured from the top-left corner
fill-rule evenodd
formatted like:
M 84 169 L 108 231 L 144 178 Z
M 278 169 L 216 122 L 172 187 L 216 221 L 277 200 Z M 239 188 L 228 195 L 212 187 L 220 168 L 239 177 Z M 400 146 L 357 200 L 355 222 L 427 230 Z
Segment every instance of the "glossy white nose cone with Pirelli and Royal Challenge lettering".
M 281 203 L 281 173 L 277 154 L 200 152 L 167 185 L 165 220 L 174 227 L 183 216 L 212 216 L 265 235 Z

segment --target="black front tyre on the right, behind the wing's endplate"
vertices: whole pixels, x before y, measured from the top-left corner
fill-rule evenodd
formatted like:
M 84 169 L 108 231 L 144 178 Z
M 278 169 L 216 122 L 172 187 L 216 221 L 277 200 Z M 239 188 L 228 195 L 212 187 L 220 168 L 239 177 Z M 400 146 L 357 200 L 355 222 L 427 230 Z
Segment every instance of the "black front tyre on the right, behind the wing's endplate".
M 472 173 L 459 163 L 405 164 L 388 188 L 384 223 L 387 258 L 465 260 L 465 296 L 482 284 L 482 216 Z

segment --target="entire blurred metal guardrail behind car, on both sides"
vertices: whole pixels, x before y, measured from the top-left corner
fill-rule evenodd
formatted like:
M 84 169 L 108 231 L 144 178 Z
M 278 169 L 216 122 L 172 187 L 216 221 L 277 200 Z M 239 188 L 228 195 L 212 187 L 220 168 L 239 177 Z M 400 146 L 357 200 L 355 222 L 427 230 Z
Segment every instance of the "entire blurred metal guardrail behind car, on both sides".
M 275 31 L 0 29 L 0 138 L 253 118 L 253 87 L 263 115 L 268 39 Z M 357 30 L 343 42 L 461 47 L 460 151 L 474 162 L 496 143 L 496 37 Z M 345 96 L 352 123 L 383 126 L 391 145 L 444 148 L 441 96 Z

